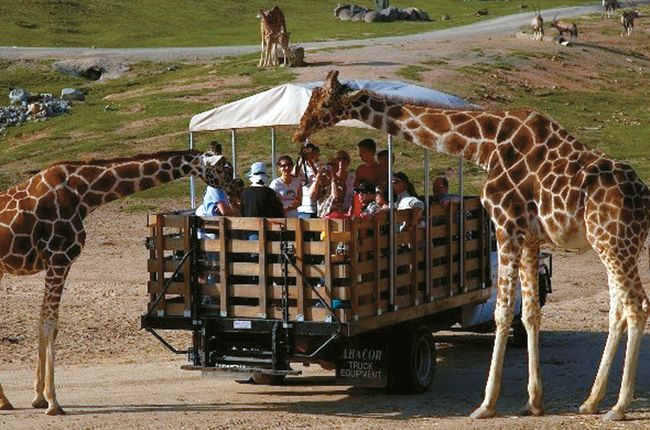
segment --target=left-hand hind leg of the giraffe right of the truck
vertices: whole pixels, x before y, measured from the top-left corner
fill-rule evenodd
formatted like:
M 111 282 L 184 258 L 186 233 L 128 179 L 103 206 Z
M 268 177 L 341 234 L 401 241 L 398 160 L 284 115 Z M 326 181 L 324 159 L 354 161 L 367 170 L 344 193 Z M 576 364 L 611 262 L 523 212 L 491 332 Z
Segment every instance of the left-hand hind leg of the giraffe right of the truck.
M 609 371 L 612 367 L 616 350 L 621 341 L 626 321 L 623 319 L 623 306 L 615 286 L 613 274 L 608 273 L 609 278 L 609 333 L 603 350 L 603 356 L 598 366 L 598 373 L 591 388 L 587 400 L 580 406 L 581 414 L 595 414 L 598 412 L 598 405 L 605 397 Z

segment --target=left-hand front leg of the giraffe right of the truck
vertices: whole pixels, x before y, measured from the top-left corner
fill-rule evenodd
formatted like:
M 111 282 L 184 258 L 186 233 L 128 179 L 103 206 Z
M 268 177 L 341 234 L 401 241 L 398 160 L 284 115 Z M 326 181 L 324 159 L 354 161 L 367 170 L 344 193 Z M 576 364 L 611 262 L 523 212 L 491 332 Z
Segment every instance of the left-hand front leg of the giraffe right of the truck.
M 494 309 L 496 338 L 492 350 L 490 373 L 485 386 L 485 398 L 481 405 L 472 412 L 471 418 L 491 418 L 495 415 L 495 405 L 501 390 L 503 359 L 510 325 L 514 317 L 515 288 L 517 286 L 519 259 L 521 256 L 521 238 L 511 236 L 509 232 L 498 229 L 499 243 L 499 279 L 497 285 L 497 303 Z

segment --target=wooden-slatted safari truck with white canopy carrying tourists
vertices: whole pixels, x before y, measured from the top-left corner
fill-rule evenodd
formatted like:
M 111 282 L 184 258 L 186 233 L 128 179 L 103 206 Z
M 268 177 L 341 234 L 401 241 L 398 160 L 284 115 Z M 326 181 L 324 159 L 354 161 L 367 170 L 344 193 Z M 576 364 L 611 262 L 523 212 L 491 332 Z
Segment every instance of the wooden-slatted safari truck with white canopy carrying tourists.
M 401 82 L 347 83 L 422 104 L 468 105 Z M 317 85 L 286 84 L 201 113 L 190 123 L 190 145 L 192 133 L 231 130 L 236 162 L 236 130 L 270 127 L 275 161 L 275 127 L 298 124 Z M 390 136 L 388 150 L 392 160 Z M 417 228 L 403 228 L 409 210 L 367 219 L 199 217 L 193 209 L 149 215 L 142 327 L 188 355 L 183 369 L 279 383 L 300 374 L 292 363 L 318 363 L 335 369 L 341 384 L 426 390 L 436 366 L 433 332 L 490 329 L 497 255 L 479 198 L 462 196 L 462 171 L 459 201 L 431 205 L 426 151 L 423 159 L 426 209 Z M 191 195 L 194 201 L 193 184 Z M 542 302 L 551 269 L 544 255 Z M 190 331 L 192 346 L 178 350 L 160 330 Z

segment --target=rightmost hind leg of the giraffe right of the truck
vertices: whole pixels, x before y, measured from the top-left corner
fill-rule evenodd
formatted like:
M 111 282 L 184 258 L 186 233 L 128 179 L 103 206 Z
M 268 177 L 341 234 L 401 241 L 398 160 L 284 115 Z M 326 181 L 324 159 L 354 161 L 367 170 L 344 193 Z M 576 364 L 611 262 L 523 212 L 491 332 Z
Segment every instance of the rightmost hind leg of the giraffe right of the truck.
M 623 366 L 623 379 L 618 394 L 618 401 L 614 407 L 603 417 L 606 421 L 620 421 L 625 419 L 625 411 L 634 400 L 634 384 L 636 371 L 639 364 L 639 349 L 643 330 L 650 314 L 650 302 L 643 290 L 637 266 L 627 273 L 629 289 L 623 295 L 625 319 L 627 321 L 627 347 L 625 350 L 625 364 Z

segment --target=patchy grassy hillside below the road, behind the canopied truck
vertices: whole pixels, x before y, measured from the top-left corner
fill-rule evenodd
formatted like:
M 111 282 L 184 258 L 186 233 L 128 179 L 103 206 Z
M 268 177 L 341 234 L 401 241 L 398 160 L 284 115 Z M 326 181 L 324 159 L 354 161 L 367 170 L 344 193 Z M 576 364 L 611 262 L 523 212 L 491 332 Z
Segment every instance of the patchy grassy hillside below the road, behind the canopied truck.
M 528 107 L 544 112 L 587 145 L 629 161 L 650 182 L 650 31 L 642 21 L 633 37 L 621 38 L 615 20 L 594 15 L 577 22 L 582 45 L 575 48 L 515 39 L 499 44 L 487 41 L 450 57 L 432 52 L 414 58 L 397 73 L 486 108 Z M 0 187 L 15 184 L 56 160 L 186 147 L 192 115 L 295 79 L 291 69 L 259 70 L 256 63 L 257 55 L 207 64 L 145 62 L 133 64 L 120 79 L 88 82 L 55 72 L 50 62 L 0 61 L 2 97 L 13 87 L 57 93 L 74 86 L 87 92 L 87 101 L 74 104 L 67 115 L 12 127 L 0 135 Z M 278 130 L 279 153 L 297 152 L 290 132 Z M 378 132 L 341 127 L 316 134 L 314 141 L 323 148 L 324 158 L 343 147 L 356 164 L 354 144 L 366 136 L 378 139 L 382 146 L 385 142 Z M 229 133 L 195 137 L 199 148 L 206 148 L 215 137 L 226 144 L 230 141 Z M 269 141 L 268 129 L 238 132 L 240 173 L 251 162 L 270 158 Z M 397 168 L 421 189 L 422 150 L 397 141 L 396 151 Z M 456 168 L 457 160 L 432 154 L 431 165 L 432 174 L 439 174 Z M 484 173 L 465 166 L 466 185 L 476 192 Z M 150 208 L 139 199 L 160 197 L 187 202 L 186 182 L 141 193 L 130 207 Z

